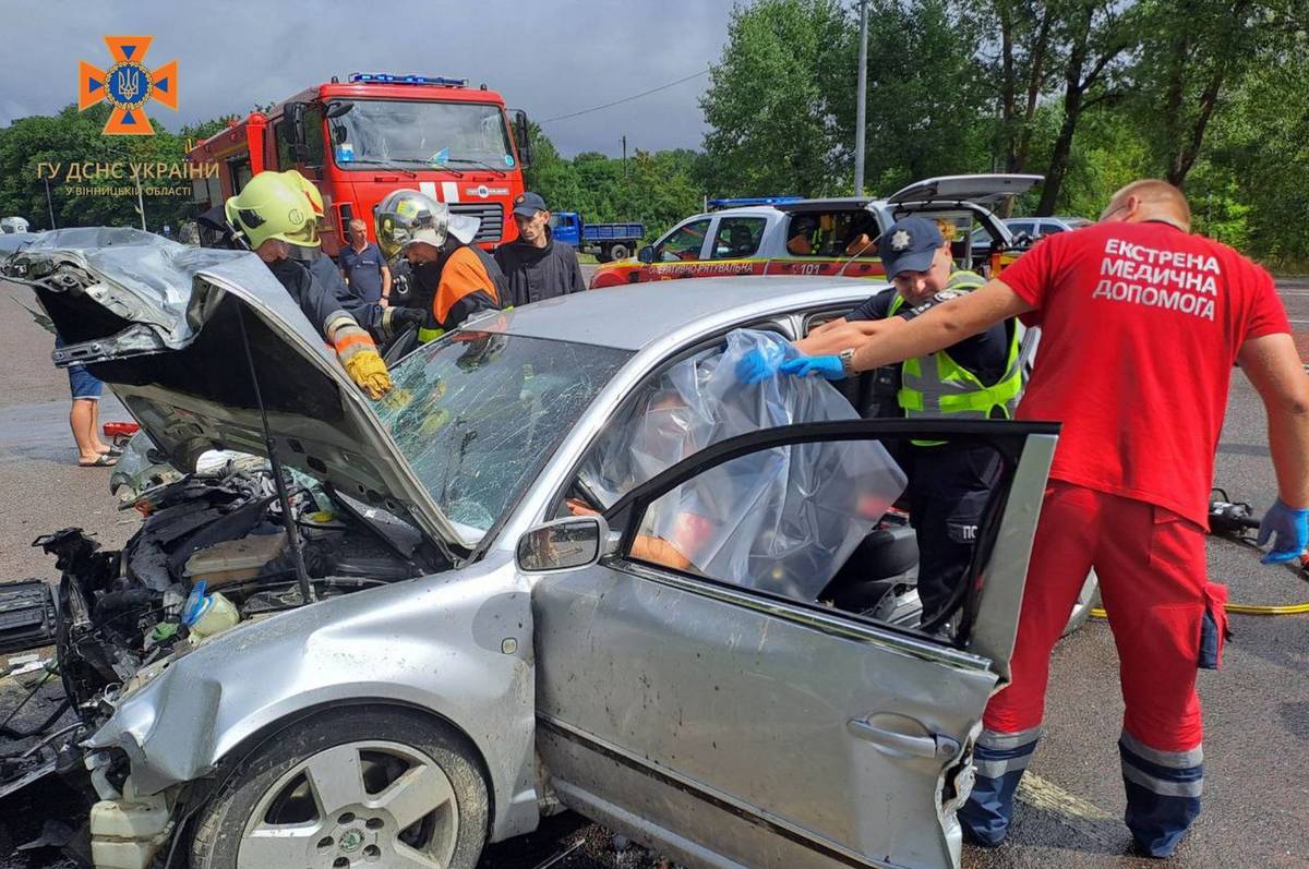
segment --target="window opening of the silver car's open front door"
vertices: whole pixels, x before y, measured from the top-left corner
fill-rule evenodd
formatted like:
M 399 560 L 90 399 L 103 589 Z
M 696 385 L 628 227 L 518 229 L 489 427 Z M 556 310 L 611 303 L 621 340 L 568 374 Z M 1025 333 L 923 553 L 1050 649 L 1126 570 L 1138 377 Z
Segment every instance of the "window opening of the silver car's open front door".
M 906 476 L 895 457 L 908 449 L 899 438 L 819 440 L 706 467 L 637 509 L 623 554 L 738 589 L 935 631 L 967 594 L 974 546 L 988 538 L 1011 478 L 997 450 L 970 444 L 969 461 L 987 483 L 957 499 L 949 516 L 919 518 L 898 503 L 944 508 L 911 496 L 901 501 Z

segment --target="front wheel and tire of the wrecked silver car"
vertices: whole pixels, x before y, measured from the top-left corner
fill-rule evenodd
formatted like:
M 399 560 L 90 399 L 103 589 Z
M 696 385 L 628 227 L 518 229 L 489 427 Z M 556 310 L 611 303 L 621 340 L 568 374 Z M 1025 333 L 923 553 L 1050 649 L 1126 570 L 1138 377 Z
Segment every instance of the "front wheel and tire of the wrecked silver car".
M 474 869 L 486 844 L 490 800 L 474 749 L 415 711 L 334 709 L 225 763 L 223 775 L 196 815 L 192 869 L 386 869 L 412 852 Z

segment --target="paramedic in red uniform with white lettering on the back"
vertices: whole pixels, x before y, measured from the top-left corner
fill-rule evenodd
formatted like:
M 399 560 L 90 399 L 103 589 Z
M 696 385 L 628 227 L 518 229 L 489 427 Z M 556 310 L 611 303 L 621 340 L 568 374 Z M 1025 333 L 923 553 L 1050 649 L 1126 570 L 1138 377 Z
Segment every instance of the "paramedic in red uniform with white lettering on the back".
M 1190 234 L 1179 190 L 1138 181 L 1100 224 L 1051 236 L 1003 277 L 890 323 L 852 360 L 868 370 L 957 344 L 991 323 L 1041 326 L 1041 360 L 1017 417 L 1059 420 L 1011 662 L 987 707 L 965 834 L 999 844 L 1041 734 L 1050 652 L 1094 567 L 1121 661 L 1118 741 L 1126 823 L 1138 848 L 1173 853 L 1200 810 L 1196 667 L 1215 669 L 1227 589 L 1207 581 L 1213 454 L 1233 363 L 1268 414 L 1279 497 L 1259 529 L 1263 561 L 1297 559 L 1309 517 L 1309 377 L 1272 279 L 1230 247 Z M 825 373 L 831 357 L 783 365 Z M 836 360 L 839 361 L 839 360 Z

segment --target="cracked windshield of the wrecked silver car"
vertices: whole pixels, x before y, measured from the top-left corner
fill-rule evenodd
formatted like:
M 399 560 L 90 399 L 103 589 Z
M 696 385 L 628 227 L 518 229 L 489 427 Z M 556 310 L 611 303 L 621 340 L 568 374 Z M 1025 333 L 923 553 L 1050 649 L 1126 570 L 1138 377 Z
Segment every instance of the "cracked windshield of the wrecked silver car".
M 631 353 L 459 331 L 391 369 L 377 415 L 441 510 L 475 543 Z

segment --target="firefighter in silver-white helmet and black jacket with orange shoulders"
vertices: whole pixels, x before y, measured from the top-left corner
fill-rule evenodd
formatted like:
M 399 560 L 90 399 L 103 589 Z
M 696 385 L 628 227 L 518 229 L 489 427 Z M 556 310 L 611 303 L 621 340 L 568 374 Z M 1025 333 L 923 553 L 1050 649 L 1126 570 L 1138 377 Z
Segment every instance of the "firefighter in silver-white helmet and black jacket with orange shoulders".
M 427 322 L 420 340 L 458 327 L 469 315 L 503 308 L 509 284 L 500 266 L 473 243 L 479 221 L 416 190 L 397 190 L 373 213 L 377 246 L 387 259 L 404 257 L 414 274 L 410 302 Z

